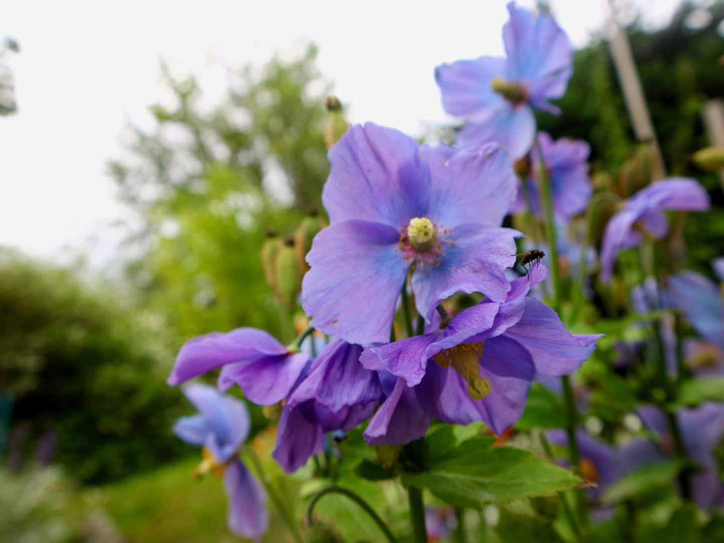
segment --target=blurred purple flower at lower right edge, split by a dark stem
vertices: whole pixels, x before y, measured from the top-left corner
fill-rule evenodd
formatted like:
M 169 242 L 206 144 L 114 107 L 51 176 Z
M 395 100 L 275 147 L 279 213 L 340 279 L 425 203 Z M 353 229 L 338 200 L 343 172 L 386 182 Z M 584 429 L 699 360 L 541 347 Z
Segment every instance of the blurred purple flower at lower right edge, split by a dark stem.
M 633 439 L 621 447 L 623 471 L 628 472 L 652 462 L 675 455 L 673 438 L 664 413 L 652 405 L 637 411 L 641 421 L 659 438 L 654 445 L 649 439 Z M 699 464 L 702 471 L 691 473 L 691 492 L 699 507 L 721 507 L 724 486 L 714 449 L 724 436 L 724 404 L 707 402 L 696 409 L 681 408 L 676 412 L 686 457 Z

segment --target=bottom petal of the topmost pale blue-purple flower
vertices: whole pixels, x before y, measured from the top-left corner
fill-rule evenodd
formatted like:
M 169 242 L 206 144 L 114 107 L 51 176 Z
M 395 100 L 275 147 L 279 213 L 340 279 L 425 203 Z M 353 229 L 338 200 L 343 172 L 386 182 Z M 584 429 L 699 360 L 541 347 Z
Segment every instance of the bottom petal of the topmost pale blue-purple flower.
M 536 133 L 536 118 L 530 106 L 503 101 L 488 113 L 484 121 L 471 122 L 458 132 L 458 146 L 478 146 L 496 141 L 510 153 L 511 159 L 526 156 Z

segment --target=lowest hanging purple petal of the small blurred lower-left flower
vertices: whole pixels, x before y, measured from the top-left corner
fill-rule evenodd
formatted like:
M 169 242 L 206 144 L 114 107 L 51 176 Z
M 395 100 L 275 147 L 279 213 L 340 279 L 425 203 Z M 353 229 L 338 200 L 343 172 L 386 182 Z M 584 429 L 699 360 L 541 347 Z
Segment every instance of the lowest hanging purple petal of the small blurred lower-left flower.
M 264 507 L 266 494 L 239 460 L 234 460 L 224 471 L 224 489 L 229 496 L 229 529 L 249 539 L 261 539 L 269 527 L 269 512 Z

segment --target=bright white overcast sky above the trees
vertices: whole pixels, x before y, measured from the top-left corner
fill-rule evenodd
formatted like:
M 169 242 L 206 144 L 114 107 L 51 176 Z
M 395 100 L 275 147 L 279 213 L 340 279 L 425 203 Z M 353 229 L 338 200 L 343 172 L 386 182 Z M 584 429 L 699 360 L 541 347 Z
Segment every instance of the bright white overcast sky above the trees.
M 655 27 L 679 1 L 630 3 Z M 576 46 L 603 26 L 602 0 L 551 4 Z M 111 223 L 128 212 L 106 162 L 127 119 L 148 124 L 147 106 L 164 98 L 160 58 L 201 74 L 213 101 L 226 86 L 214 61 L 261 64 L 313 41 L 351 120 L 414 135 L 445 119 L 434 67 L 502 54 L 507 18 L 504 0 L 5 2 L 0 36 L 22 51 L 11 61 L 19 111 L 0 118 L 0 245 L 59 261 L 85 252 L 96 265 L 114 256 Z

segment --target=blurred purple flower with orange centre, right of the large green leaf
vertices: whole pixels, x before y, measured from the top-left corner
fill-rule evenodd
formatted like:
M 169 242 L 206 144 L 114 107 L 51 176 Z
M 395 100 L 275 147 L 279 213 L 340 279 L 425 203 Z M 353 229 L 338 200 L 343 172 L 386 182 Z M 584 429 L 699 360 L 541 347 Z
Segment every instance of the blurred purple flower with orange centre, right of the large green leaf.
M 557 445 L 568 446 L 568 434 L 565 430 L 550 430 L 546 432 L 548 439 Z M 588 494 L 592 500 L 599 500 L 601 494 L 618 481 L 623 475 L 619 466 L 618 452 L 615 447 L 602 439 L 589 436 L 583 429 L 576 430 L 578 453 L 580 455 L 581 475 L 586 481 L 595 483 L 589 487 Z M 570 466 L 568 460 L 560 459 L 564 466 Z

